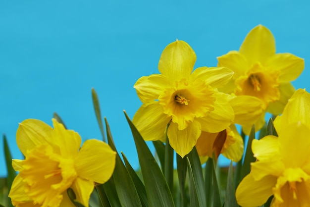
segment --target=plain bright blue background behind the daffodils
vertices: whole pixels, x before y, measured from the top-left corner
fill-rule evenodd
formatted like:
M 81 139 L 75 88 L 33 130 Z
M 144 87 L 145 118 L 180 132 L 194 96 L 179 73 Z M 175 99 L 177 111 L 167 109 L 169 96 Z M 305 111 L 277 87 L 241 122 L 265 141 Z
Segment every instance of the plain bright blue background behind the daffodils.
M 133 88 L 158 73 L 162 50 L 176 39 L 190 44 L 196 67 L 239 47 L 258 24 L 268 27 L 277 52 L 306 60 L 296 88 L 309 87 L 310 1 L 4 1 L 0 2 L 0 133 L 13 158 L 21 158 L 18 123 L 37 118 L 52 124 L 57 112 L 83 140 L 101 139 L 91 88 L 100 99 L 118 151 L 134 167 L 137 154 L 123 109 L 140 107 Z M 151 144 L 152 145 L 152 144 Z M 0 176 L 6 175 L 0 142 Z

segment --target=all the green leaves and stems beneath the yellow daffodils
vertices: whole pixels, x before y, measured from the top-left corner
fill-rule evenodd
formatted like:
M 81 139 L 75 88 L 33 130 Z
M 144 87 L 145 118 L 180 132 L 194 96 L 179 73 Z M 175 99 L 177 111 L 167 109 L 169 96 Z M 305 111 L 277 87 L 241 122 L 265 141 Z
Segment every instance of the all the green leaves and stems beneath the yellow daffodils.
M 106 136 L 108 145 L 117 152 L 106 119 L 104 134 L 99 100 L 94 89 L 92 97 L 103 140 Z M 53 117 L 64 124 L 57 113 L 54 113 Z M 104 184 L 95 183 L 96 190 L 90 199 L 92 207 L 239 207 L 235 189 L 250 172 L 250 163 L 255 161 L 251 150 L 252 140 L 255 139 L 254 127 L 249 136 L 244 161 L 240 160 L 235 164 L 231 162 L 229 167 L 218 167 L 213 157 L 202 167 L 194 147 L 184 158 L 176 155 L 177 169 L 174 169 L 175 154 L 169 140 L 166 139 L 166 143 L 153 141 L 153 154 L 126 112 L 125 117 L 132 131 L 141 169 L 133 169 L 126 156 L 117 153 L 112 177 Z M 259 138 L 264 135 L 277 136 L 272 119 L 262 129 Z M 243 134 L 242 137 L 245 139 L 246 136 Z M 8 176 L 0 179 L 0 207 L 11 205 L 7 195 L 16 176 L 11 166 L 12 157 L 5 136 L 3 146 Z M 67 193 L 76 207 L 83 207 L 76 200 L 72 189 L 68 189 Z M 272 197 L 263 207 L 269 207 L 271 199 Z

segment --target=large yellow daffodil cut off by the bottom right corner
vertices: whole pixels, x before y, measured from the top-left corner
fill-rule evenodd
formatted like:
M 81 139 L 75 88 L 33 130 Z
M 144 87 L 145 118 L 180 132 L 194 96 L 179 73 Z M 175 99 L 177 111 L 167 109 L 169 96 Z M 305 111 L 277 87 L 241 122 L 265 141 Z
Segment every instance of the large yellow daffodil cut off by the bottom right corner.
M 293 123 L 279 137 L 253 140 L 257 161 L 239 184 L 236 199 L 242 207 L 258 207 L 274 196 L 270 207 L 310 205 L 310 128 Z

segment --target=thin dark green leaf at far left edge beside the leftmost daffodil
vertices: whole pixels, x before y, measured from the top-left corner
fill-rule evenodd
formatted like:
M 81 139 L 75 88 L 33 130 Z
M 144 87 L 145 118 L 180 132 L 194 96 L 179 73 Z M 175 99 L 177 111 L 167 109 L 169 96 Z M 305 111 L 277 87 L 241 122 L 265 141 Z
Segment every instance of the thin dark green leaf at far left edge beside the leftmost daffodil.
M 11 190 L 11 186 L 13 183 L 13 180 L 16 176 L 16 172 L 12 167 L 12 156 L 6 141 L 6 136 L 3 134 L 3 147 L 4 147 L 4 156 L 5 156 L 5 163 L 6 163 L 6 169 L 7 169 L 7 178 L 6 178 L 6 183 L 7 183 L 7 188 L 8 192 Z M 13 207 L 11 203 L 11 199 L 7 197 L 7 203 L 9 207 Z

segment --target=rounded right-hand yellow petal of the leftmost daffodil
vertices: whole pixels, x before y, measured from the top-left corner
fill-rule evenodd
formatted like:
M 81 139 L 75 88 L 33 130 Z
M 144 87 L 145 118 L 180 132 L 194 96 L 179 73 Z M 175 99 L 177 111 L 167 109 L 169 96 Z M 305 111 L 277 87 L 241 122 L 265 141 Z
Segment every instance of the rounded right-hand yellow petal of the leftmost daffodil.
M 112 175 L 115 167 L 116 153 L 104 142 L 86 140 L 75 157 L 75 168 L 80 178 L 106 182 Z

